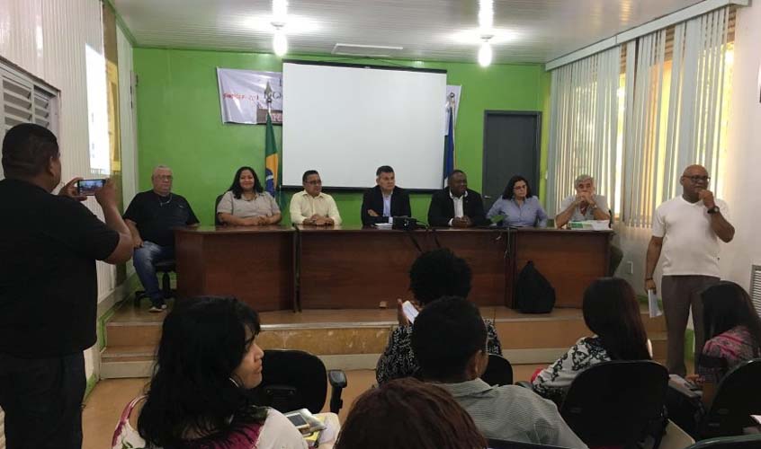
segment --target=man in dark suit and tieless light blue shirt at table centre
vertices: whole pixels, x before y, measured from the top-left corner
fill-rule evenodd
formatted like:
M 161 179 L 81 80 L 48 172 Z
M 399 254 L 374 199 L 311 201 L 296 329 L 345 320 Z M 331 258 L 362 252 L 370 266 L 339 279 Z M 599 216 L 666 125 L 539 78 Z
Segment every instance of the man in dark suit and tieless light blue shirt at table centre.
M 365 190 L 362 198 L 362 224 L 389 223 L 392 216 L 412 216 L 409 194 L 396 186 L 394 169 L 383 165 L 375 175 L 378 185 Z

